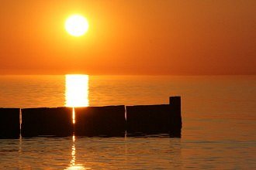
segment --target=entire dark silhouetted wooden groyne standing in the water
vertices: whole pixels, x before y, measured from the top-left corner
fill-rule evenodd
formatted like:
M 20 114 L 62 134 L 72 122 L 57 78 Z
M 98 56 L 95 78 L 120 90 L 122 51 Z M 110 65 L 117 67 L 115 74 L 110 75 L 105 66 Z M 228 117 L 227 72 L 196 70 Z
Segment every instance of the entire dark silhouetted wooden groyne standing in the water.
M 0 138 L 18 138 L 20 134 L 27 138 L 72 134 L 181 137 L 181 129 L 181 97 L 170 97 L 169 104 L 160 105 L 75 107 L 74 110 L 71 107 L 0 108 Z

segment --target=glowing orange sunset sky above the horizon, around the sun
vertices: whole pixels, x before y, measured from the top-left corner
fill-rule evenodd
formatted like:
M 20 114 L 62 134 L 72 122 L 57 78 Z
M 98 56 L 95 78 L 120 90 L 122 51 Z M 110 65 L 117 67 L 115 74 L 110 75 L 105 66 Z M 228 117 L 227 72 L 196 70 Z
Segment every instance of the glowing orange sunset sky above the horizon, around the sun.
M 0 74 L 256 74 L 255 0 L 1 1 Z M 64 22 L 85 15 L 72 37 Z

